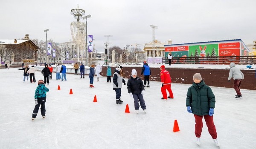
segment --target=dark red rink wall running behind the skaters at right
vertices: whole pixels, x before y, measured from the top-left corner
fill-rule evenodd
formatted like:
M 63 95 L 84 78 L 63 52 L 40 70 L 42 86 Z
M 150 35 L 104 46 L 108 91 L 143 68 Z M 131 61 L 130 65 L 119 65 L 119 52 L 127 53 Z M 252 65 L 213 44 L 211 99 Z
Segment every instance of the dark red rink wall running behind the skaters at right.
M 113 74 L 116 67 L 111 67 L 111 72 Z M 124 77 L 130 78 L 131 70 L 136 69 L 138 76 L 140 76 L 142 67 L 125 67 L 124 68 Z M 151 76 L 150 80 L 160 81 L 160 69 L 159 68 L 150 68 Z M 218 87 L 228 87 L 233 88 L 233 79 L 228 82 L 229 69 L 180 69 L 180 68 L 166 68 L 170 72 L 173 83 L 184 83 L 192 84 L 193 75 L 199 72 L 208 86 L 218 86 Z M 106 76 L 107 67 L 102 66 L 102 76 Z M 255 70 L 241 70 L 244 74 L 244 80 L 241 83 L 241 89 L 251 89 L 256 90 L 256 71 Z M 144 80 L 144 77 L 141 77 Z

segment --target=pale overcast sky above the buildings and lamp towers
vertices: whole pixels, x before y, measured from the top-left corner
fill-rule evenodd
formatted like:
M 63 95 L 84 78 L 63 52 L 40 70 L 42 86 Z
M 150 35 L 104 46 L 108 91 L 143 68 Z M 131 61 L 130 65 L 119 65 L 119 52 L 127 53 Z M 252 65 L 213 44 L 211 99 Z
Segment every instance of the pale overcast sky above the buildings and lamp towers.
M 173 44 L 241 39 L 256 40 L 256 0 L 0 0 L 0 39 L 23 38 L 62 43 L 72 40 L 71 9 L 84 9 L 88 34 L 98 51 L 110 46 L 148 43 L 155 38 Z M 84 21 L 85 20 L 81 20 Z M 134 46 L 133 46 L 134 47 Z

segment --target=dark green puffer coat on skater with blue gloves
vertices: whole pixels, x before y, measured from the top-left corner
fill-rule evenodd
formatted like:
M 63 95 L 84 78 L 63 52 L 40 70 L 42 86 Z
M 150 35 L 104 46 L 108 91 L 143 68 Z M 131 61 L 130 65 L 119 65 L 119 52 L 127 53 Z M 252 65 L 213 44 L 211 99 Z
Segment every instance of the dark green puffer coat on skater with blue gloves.
M 209 115 L 209 109 L 215 108 L 215 96 L 212 89 L 205 85 L 204 80 L 200 83 L 193 82 L 189 87 L 186 106 L 191 106 L 192 113 L 195 115 Z

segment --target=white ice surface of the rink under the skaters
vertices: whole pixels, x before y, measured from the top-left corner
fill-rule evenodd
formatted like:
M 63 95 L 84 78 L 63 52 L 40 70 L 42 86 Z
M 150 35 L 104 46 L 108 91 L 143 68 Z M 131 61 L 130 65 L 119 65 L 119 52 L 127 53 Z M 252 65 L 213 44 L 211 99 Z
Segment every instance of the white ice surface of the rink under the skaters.
M 35 78 L 38 81 L 43 76 L 36 72 Z M 195 118 L 186 111 L 190 84 L 172 83 L 174 99 L 161 100 L 161 83 L 151 81 L 144 95 L 147 113 L 140 109 L 136 114 L 127 86 L 122 87 L 124 103 L 116 105 L 112 83 L 106 83 L 106 77 L 99 82 L 94 77 L 94 89 L 89 88 L 88 76 L 80 79 L 80 75 L 67 74 L 67 81 L 55 79 L 53 72 L 46 85 L 46 118 L 39 109 L 32 121 L 37 83 L 23 83 L 23 71 L 0 69 L 0 149 L 198 149 Z M 234 89 L 211 88 L 216 96 L 213 116 L 221 149 L 255 149 L 256 91 L 241 89 L 244 98 L 236 100 Z M 130 113 L 125 113 L 126 104 Z M 180 132 L 172 131 L 174 120 Z M 218 149 L 205 123 L 200 149 Z

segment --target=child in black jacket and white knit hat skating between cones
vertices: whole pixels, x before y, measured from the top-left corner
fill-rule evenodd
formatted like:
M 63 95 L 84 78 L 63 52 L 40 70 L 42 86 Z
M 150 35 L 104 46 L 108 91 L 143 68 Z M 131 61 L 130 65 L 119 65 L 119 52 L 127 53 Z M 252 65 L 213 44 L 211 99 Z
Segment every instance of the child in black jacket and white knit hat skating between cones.
M 132 69 L 131 78 L 127 82 L 127 89 L 129 95 L 134 98 L 134 108 L 136 112 L 139 113 L 139 108 L 141 107 L 146 113 L 146 105 L 143 99 L 143 92 L 145 92 L 144 85 L 142 80 L 137 77 L 137 71 L 135 69 Z

